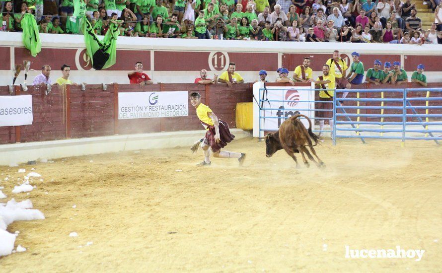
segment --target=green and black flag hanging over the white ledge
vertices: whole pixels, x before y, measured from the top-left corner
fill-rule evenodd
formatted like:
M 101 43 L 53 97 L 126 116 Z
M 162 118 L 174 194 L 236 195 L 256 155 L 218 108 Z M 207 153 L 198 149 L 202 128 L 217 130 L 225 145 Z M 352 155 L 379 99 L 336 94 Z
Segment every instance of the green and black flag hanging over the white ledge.
M 104 35 L 103 40 L 99 40 L 89 20 L 84 20 L 83 33 L 86 52 L 92 62 L 92 67 L 101 70 L 115 65 L 117 38 L 120 35 L 118 25 L 112 22 L 109 23 L 109 30 Z

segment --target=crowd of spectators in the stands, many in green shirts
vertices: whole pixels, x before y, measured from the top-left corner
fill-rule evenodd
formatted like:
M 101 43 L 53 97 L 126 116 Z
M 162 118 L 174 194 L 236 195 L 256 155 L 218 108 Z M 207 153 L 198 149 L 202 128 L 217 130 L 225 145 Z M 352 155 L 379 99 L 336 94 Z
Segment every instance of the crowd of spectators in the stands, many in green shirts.
M 442 0 L 430 29 L 410 0 L 14 0 L 0 1 L 2 31 L 21 31 L 33 13 L 40 33 L 97 35 L 110 22 L 121 36 L 305 42 L 441 44 Z M 75 15 L 75 16 L 73 16 Z

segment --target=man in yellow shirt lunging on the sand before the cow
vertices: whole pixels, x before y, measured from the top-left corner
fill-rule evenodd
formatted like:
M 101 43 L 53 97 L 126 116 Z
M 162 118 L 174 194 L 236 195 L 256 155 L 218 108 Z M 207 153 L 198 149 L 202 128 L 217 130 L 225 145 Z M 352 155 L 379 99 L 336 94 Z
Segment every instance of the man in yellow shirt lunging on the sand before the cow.
M 235 136 L 230 134 L 227 123 L 218 119 L 209 106 L 201 102 L 201 95 L 198 92 L 190 93 L 190 103 L 197 110 L 198 119 L 200 119 L 203 127 L 207 130 L 206 136 L 200 140 L 197 140 L 191 147 L 193 152 L 196 152 L 198 146 L 201 144 L 201 148 L 204 153 L 204 161 L 198 164 L 199 166 L 210 165 L 210 150 L 211 148 L 215 157 L 221 158 L 238 158 L 239 165 L 242 165 L 245 159 L 245 153 L 221 151 L 221 148 L 225 147 L 228 142 L 232 141 Z

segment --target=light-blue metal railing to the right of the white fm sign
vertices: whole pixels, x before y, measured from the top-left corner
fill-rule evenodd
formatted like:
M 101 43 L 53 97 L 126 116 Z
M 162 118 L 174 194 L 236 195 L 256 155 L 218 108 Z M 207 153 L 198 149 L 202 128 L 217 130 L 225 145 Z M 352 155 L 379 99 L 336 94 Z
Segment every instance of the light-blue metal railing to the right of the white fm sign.
M 419 92 L 426 91 L 426 97 L 409 97 L 411 92 Z M 340 93 L 349 92 L 349 93 L 358 93 L 357 98 L 339 98 Z M 384 98 L 383 92 L 399 92 L 402 94 L 402 98 Z M 438 96 L 431 97 L 430 93 L 437 93 Z M 359 98 L 359 93 L 382 93 L 381 98 Z M 429 110 L 431 109 L 442 109 L 442 88 L 412 88 L 412 89 L 337 89 L 335 90 L 335 96 L 333 97 L 333 144 L 336 145 L 336 139 L 338 137 L 347 137 L 347 138 L 361 138 L 364 141 L 364 138 L 385 138 L 385 139 L 401 139 L 402 144 L 404 144 L 407 139 L 424 139 L 424 140 L 434 140 L 437 144 L 439 144 L 438 140 L 442 140 L 442 135 L 435 136 L 433 133 L 442 133 L 441 129 L 429 129 L 429 126 L 441 126 L 441 121 L 430 122 L 429 118 L 442 118 L 442 114 L 429 114 Z M 343 106 L 340 102 L 348 103 L 348 102 L 357 102 L 357 106 Z M 422 102 L 425 101 L 426 105 L 422 106 L 414 106 L 412 102 Z M 378 103 L 381 102 L 381 106 L 372 106 L 372 105 L 360 105 L 360 103 Z M 385 102 L 394 102 L 400 103 L 400 105 L 395 106 L 384 106 Z M 438 105 L 429 105 L 429 102 L 438 102 Z M 346 113 L 345 109 L 357 110 L 358 113 Z M 377 113 L 367 113 L 360 114 L 360 110 L 381 110 L 380 114 Z M 395 110 L 399 113 L 394 114 L 384 114 L 383 110 Z M 418 113 L 417 110 L 426 110 L 425 114 Z M 342 113 L 338 113 L 338 112 Z M 410 111 L 411 113 L 408 113 Z M 346 118 L 347 121 L 337 120 L 338 118 Z M 357 118 L 357 121 L 352 120 L 352 118 Z M 360 121 L 360 118 L 365 118 L 366 121 Z M 380 121 L 371 121 L 371 119 L 378 119 Z M 384 122 L 384 118 L 391 118 L 397 121 L 388 121 Z M 425 118 L 425 121 L 423 120 Z M 370 119 L 370 120 L 369 120 Z M 409 121 L 409 120 L 418 120 L 418 121 Z M 352 128 L 342 127 L 344 125 L 351 125 Z M 356 127 L 355 127 L 356 125 Z M 381 126 L 378 128 L 359 128 L 360 125 L 370 125 L 370 126 Z M 397 125 L 401 126 L 401 129 L 384 129 L 383 126 L 387 125 Z M 423 126 L 423 130 L 418 129 L 407 129 L 407 126 L 412 125 L 421 125 Z M 355 132 L 356 135 L 343 135 L 339 134 L 339 132 Z M 380 133 L 379 136 L 367 136 L 361 135 L 363 132 L 368 133 Z M 384 136 L 384 133 L 401 133 L 401 136 Z M 408 136 L 407 133 L 422 133 L 425 136 Z

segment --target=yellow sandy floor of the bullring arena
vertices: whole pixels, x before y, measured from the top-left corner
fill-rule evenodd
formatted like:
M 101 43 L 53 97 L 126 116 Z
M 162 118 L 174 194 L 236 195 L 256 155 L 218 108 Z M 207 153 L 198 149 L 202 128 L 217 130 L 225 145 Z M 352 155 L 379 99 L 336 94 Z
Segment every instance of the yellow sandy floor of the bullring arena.
M 29 197 L 46 219 L 9 225 L 28 250 L 0 258 L 0 271 L 440 272 L 442 147 L 434 142 L 328 140 L 316 148 L 324 171 L 295 170 L 284 151 L 266 158 L 256 139 L 228 150 L 247 152 L 244 167 L 213 159 L 197 168 L 201 150 L 188 147 L 20 166 L 44 182 L 26 196 L 11 193 L 14 179 L 1 181 L 3 193 Z M 16 180 L 17 169 L 0 167 L 1 179 Z M 420 262 L 346 259 L 345 245 L 425 254 Z

